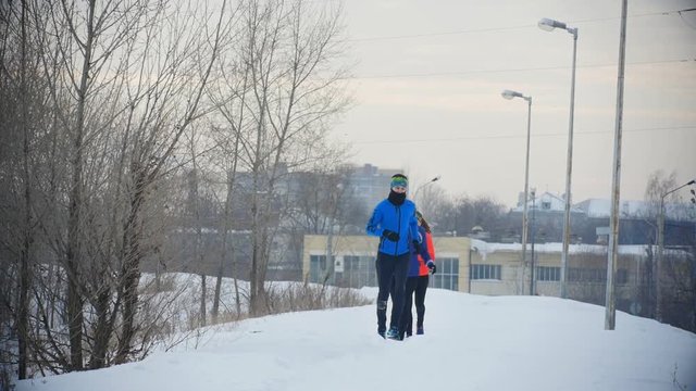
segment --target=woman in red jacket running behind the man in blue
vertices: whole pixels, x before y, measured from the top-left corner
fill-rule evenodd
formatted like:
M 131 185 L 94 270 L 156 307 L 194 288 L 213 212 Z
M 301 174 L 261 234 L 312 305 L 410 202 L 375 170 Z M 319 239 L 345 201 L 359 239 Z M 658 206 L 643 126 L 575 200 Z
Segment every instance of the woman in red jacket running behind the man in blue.
M 403 302 L 403 311 L 401 313 L 400 330 L 406 332 L 406 337 L 413 335 L 413 314 L 411 307 L 413 303 L 413 293 L 415 293 L 415 333 L 423 335 L 423 320 L 425 317 L 425 291 L 427 291 L 427 282 L 430 273 L 435 274 L 435 248 L 433 247 L 433 236 L 431 227 L 423 218 L 421 212 L 415 212 L 418 219 L 419 232 L 423 237 L 423 244 L 420 249 L 412 245 L 411 260 L 409 264 L 409 275 L 406 280 L 406 300 Z

